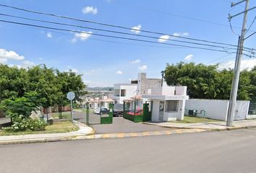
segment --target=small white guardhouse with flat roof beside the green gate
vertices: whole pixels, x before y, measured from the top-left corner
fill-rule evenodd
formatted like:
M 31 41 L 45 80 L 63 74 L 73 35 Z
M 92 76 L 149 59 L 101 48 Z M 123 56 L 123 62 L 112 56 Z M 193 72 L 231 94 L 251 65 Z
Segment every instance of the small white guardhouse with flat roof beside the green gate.
M 142 98 L 153 103 L 152 121 L 183 120 L 187 86 L 158 86 L 148 89 Z

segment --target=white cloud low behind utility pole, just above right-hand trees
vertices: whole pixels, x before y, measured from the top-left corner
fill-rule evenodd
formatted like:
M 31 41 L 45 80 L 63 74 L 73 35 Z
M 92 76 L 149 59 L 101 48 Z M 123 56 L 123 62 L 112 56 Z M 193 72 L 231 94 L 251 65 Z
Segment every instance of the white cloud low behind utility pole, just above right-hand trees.
M 235 61 L 228 61 L 226 63 L 222 63 L 219 65 L 218 69 L 222 70 L 223 68 L 234 68 Z M 243 59 L 241 61 L 240 71 L 243 71 L 244 69 L 251 70 L 254 66 L 256 66 L 256 59 L 250 58 L 250 59 Z

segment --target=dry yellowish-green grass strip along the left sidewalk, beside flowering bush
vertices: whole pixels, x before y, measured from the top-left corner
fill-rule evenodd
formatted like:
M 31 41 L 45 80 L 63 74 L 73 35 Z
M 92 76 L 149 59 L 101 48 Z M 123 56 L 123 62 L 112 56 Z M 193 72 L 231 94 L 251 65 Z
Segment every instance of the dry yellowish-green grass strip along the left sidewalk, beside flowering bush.
M 25 130 L 22 132 L 12 132 L 12 133 L 4 133 L 0 130 L 0 136 L 11 136 L 11 135 L 27 135 L 27 134 L 42 134 L 42 133 L 65 133 L 76 131 L 79 128 L 77 125 L 73 125 L 69 120 L 65 121 L 55 121 L 53 125 L 47 125 L 46 130 L 44 131 L 32 131 Z

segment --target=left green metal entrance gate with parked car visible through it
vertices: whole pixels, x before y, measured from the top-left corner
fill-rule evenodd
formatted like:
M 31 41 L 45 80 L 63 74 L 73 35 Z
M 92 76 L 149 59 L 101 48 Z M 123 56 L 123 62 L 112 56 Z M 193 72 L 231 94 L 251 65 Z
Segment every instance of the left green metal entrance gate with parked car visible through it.
M 113 102 L 87 102 L 85 109 L 85 121 L 88 125 L 113 123 Z

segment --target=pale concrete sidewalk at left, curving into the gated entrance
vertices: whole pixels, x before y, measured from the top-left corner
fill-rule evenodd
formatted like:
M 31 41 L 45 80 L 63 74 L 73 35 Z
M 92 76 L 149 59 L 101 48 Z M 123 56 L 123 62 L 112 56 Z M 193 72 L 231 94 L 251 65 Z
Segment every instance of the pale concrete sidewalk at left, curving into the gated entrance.
M 87 136 L 93 133 L 93 128 L 90 128 L 85 124 L 76 121 L 74 121 L 74 124 L 77 125 L 80 129 L 69 133 L 44 133 L 20 136 L 0 136 L 0 144 L 67 141 L 76 139 L 80 136 Z

